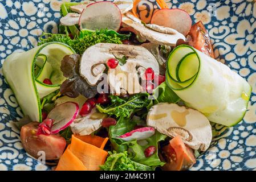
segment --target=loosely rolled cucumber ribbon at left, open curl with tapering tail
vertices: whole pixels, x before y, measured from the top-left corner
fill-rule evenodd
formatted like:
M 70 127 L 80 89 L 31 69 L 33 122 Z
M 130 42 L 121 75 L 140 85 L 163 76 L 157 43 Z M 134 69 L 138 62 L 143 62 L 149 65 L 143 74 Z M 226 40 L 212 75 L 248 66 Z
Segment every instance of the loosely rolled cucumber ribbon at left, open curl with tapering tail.
M 40 100 L 60 88 L 65 80 L 60 71 L 61 61 L 73 53 L 66 44 L 51 42 L 27 52 L 14 52 L 3 62 L 3 75 L 23 114 L 32 121 L 42 121 Z M 52 85 L 44 84 L 45 78 L 50 78 Z

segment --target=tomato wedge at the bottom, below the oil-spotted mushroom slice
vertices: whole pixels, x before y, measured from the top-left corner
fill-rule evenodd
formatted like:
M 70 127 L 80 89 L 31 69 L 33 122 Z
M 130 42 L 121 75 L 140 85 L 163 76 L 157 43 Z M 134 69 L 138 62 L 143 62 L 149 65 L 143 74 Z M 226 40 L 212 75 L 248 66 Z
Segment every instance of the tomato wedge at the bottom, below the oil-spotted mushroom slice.
M 165 171 L 185 170 L 196 163 L 193 150 L 184 144 L 180 135 L 162 148 L 161 155 L 166 160 L 166 164 L 162 167 Z

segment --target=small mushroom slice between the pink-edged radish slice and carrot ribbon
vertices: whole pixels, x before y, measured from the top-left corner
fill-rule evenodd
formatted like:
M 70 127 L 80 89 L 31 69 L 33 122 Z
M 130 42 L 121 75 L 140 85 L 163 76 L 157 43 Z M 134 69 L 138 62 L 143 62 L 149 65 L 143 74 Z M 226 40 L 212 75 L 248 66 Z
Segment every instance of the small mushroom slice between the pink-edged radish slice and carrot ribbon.
M 70 129 L 75 135 L 90 135 L 101 127 L 101 122 L 107 118 L 107 114 L 99 113 L 95 108 L 85 117 L 75 119 Z

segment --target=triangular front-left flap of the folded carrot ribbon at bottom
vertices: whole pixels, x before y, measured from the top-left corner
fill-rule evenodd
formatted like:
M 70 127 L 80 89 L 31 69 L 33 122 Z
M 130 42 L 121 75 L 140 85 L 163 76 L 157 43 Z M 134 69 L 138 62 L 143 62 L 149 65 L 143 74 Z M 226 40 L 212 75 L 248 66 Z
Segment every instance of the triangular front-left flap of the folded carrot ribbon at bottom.
M 55 171 L 87 171 L 84 164 L 70 151 L 70 145 L 59 160 Z

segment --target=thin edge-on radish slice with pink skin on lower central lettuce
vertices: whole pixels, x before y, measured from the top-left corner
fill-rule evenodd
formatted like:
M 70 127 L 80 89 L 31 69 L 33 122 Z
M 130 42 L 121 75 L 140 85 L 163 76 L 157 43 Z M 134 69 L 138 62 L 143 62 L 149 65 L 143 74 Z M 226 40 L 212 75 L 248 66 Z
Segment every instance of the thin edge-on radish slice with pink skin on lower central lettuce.
M 154 134 L 155 129 L 153 127 L 141 127 L 140 129 L 132 130 L 128 133 L 125 133 L 118 138 L 121 138 L 128 142 L 133 139 L 144 140 L 151 137 Z

